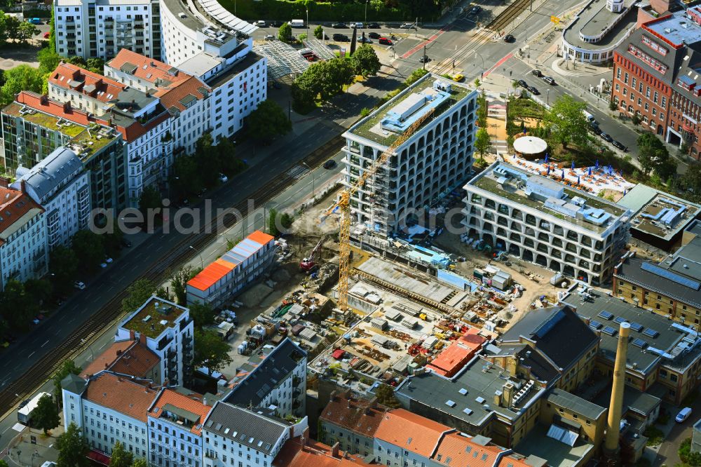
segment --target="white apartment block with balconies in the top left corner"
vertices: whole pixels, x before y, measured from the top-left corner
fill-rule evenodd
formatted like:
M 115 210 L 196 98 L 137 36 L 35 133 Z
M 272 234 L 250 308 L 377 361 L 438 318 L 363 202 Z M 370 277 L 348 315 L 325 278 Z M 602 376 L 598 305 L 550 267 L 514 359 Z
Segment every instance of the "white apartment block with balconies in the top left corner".
M 161 6 L 157 0 L 57 0 L 53 8 L 59 55 L 107 59 L 128 48 L 161 57 Z

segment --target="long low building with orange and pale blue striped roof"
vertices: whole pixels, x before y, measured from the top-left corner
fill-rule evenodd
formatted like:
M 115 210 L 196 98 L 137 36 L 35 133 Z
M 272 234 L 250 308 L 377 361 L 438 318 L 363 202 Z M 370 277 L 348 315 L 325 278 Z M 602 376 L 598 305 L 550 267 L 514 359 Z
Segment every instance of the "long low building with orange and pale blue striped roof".
M 276 252 L 275 237 L 254 231 L 187 282 L 188 304 L 222 306 L 266 273 Z

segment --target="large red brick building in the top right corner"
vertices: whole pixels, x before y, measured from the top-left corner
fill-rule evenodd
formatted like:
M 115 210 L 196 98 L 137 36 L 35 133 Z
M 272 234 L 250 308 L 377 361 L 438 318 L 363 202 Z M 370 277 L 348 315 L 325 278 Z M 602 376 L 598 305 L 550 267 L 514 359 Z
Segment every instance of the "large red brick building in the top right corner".
M 642 125 L 666 142 L 685 143 L 699 158 L 701 7 L 670 13 L 674 5 L 658 3 L 651 5 L 657 18 L 644 22 L 615 51 L 613 102 L 628 115 L 639 114 Z

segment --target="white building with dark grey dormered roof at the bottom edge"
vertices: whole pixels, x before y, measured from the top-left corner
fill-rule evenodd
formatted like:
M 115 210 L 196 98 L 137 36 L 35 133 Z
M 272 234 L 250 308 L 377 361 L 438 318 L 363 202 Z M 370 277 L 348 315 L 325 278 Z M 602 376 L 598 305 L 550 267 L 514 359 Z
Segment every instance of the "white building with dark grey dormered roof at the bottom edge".
M 268 467 L 285 442 L 304 433 L 307 419 L 297 423 L 253 410 L 216 402 L 203 426 L 205 467 Z

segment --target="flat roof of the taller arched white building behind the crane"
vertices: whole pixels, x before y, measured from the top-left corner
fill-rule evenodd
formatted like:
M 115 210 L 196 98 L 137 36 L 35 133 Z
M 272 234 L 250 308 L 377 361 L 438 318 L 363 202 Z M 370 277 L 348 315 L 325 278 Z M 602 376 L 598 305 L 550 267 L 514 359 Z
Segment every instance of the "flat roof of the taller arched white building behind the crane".
M 390 99 L 389 102 L 384 104 L 382 107 L 372 112 L 372 114 L 369 114 L 369 116 L 365 117 L 365 119 L 362 119 L 359 123 L 356 123 L 355 126 L 348 130 L 348 133 L 365 138 L 367 140 L 374 141 L 379 144 L 383 144 L 384 146 L 390 146 L 390 144 L 397 140 L 397 137 L 399 137 L 400 133 L 395 133 L 394 131 L 383 129 L 381 126 L 381 121 L 388 119 L 391 111 L 397 108 L 404 109 L 404 106 L 407 104 L 407 102 L 416 99 L 415 95 L 417 93 L 423 93 L 424 91 L 432 90 L 433 84 L 437 81 L 449 83 L 450 91 L 449 93 L 447 93 L 446 96 L 441 96 L 440 99 L 436 100 L 435 103 L 437 105 L 433 111 L 433 116 L 430 117 L 430 119 L 427 119 L 423 123 L 423 125 L 426 125 L 428 122 L 437 118 L 437 116 L 440 116 L 440 114 L 453 107 L 455 104 L 463 100 L 472 92 L 472 89 L 468 88 L 464 84 L 450 81 L 448 79 L 443 78 L 442 76 L 437 76 L 435 74 L 427 74 L 422 79 L 416 81 L 416 83 L 409 86 L 409 88 L 403 90 L 402 93 Z M 423 108 L 426 108 L 429 105 L 430 101 L 424 104 Z M 419 114 L 421 109 L 422 108 L 415 109 L 416 114 Z M 411 117 L 409 117 L 407 121 L 409 119 L 411 119 Z

